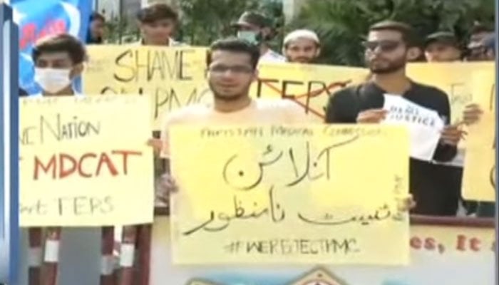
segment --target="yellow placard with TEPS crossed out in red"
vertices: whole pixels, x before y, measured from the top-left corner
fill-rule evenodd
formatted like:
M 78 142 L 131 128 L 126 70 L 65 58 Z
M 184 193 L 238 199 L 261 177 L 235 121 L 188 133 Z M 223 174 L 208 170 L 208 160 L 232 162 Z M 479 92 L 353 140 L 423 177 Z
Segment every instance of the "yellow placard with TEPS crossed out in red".
M 302 105 L 315 120 L 324 122 L 329 96 L 366 79 L 365 68 L 295 63 L 262 63 L 259 79 L 252 85 L 255 98 L 287 98 Z

